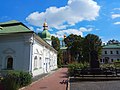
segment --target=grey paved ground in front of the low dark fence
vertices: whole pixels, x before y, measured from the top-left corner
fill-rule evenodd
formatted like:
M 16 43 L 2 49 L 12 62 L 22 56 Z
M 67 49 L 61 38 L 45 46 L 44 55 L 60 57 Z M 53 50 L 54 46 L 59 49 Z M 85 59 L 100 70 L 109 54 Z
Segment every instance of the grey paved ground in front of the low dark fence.
M 70 90 L 120 90 L 120 81 L 71 82 Z

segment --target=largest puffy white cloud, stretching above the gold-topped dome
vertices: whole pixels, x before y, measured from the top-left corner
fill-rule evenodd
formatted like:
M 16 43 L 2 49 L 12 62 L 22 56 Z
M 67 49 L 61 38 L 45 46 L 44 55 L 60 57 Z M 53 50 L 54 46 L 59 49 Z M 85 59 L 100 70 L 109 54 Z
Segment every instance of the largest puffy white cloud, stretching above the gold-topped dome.
M 66 29 L 83 20 L 95 20 L 100 6 L 93 0 L 69 0 L 64 7 L 49 7 L 45 12 L 33 12 L 26 20 L 35 26 L 42 26 L 45 19 L 50 27 Z

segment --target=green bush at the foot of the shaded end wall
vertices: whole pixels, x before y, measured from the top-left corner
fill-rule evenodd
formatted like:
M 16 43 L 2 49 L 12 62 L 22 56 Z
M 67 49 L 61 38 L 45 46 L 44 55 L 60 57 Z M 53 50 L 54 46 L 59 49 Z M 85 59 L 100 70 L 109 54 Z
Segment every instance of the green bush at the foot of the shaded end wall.
M 30 84 L 32 75 L 22 71 L 7 71 L 2 80 L 5 90 L 18 90 L 20 87 Z

